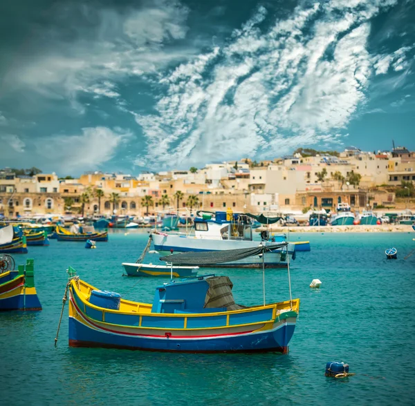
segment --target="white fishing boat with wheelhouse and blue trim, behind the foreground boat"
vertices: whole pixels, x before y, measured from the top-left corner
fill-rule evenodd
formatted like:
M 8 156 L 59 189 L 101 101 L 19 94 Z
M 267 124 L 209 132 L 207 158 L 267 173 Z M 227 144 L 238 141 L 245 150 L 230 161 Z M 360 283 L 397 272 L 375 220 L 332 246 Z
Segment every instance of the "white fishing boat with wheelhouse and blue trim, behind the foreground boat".
M 261 224 L 273 224 L 280 218 L 266 218 L 264 215 L 249 215 Z M 196 213 L 194 218 L 194 235 L 181 233 L 168 234 L 153 231 L 151 239 L 154 242 L 154 249 L 161 253 L 174 252 L 202 252 L 202 251 L 224 251 L 229 249 L 248 249 L 258 247 L 259 241 L 252 238 L 252 225 L 248 214 L 236 214 L 232 211 L 216 211 L 215 213 Z M 264 241 L 265 245 L 272 245 L 275 242 Z M 286 267 L 287 253 L 295 259 L 295 245 L 288 244 L 288 249 L 275 249 L 273 252 L 266 252 L 266 267 Z M 215 265 L 215 267 L 261 267 L 262 258 L 254 255 L 249 258 L 231 261 Z M 210 267 L 210 264 L 203 264 L 203 267 Z

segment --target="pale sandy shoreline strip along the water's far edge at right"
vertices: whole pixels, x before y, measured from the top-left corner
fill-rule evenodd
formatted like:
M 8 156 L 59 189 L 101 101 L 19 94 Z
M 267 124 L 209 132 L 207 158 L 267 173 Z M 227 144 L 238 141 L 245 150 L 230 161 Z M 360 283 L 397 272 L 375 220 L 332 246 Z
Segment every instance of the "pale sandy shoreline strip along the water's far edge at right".
M 266 227 L 255 229 L 257 233 Z M 268 231 L 272 233 L 414 233 L 410 224 L 377 224 L 368 226 L 357 224 L 353 226 L 275 226 L 270 224 Z

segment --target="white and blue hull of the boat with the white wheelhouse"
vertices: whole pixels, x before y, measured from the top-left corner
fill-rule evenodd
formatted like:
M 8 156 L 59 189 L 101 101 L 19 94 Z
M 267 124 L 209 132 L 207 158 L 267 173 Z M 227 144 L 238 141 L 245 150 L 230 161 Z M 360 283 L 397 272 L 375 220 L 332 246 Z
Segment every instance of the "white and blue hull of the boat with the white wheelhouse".
M 151 234 L 154 242 L 154 249 L 159 253 L 168 255 L 174 252 L 202 252 L 202 251 L 223 251 L 228 249 L 241 249 L 258 247 L 257 241 L 238 240 L 204 240 L 198 238 L 185 238 L 178 235 Z M 270 243 L 275 244 L 275 243 Z M 295 245 L 288 244 L 288 254 L 295 260 Z M 252 255 L 243 260 L 225 262 L 223 264 L 194 264 L 199 267 L 214 268 L 261 268 L 263 263 L 262 255 Z M 267 268 L 287 267 L 286 249 L 278 249 L 264 254 L 264 266 Z

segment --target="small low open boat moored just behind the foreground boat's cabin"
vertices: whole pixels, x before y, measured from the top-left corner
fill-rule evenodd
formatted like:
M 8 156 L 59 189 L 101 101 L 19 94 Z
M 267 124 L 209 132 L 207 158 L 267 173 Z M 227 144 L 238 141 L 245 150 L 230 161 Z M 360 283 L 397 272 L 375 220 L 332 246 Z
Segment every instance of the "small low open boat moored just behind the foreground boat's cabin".
M 167 276 L 169 278 L 190 278 L 197 275 L 199 267 L 177 267 L 173 264 L 137 264 L 123 262 L 128 276 Z

